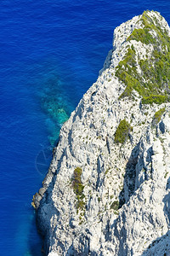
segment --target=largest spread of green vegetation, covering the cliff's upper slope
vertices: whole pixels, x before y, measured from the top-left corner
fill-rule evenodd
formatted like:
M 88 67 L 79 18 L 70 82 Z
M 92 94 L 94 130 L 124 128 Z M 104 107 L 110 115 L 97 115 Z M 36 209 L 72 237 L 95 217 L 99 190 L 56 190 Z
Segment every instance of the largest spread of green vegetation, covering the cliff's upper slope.
M 124 60 L 116 67 L 116 77 L 126 85 L 120 98 L 132 97 L 132 91 L 136 90 L 142 96 L 143 104 L 170 102 L 170 38 L 167 31 L 161 29 L 159 21 L 147 15 L 147 11 L 140 21 L 144 28 L 134 29 L 127 41 L 136 40 L 143 44 L 152 44 L 154 50 L 150 59 L 137 61 L 134 46 L 127 49 Z M 138 64 L 142 73 L 137 71 Z

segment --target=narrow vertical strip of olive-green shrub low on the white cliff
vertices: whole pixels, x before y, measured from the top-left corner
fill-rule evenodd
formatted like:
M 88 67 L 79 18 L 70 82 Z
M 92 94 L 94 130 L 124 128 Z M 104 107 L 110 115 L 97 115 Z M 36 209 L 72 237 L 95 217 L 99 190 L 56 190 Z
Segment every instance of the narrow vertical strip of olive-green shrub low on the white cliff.
M 72 186 L 73 186 L 75 194 L 77 195 L 77 210 L 79 208 L 81 210 L 83 210 L 83 208 L 85 206 L 85 202 L 83 201 L 85 195 L 82 193 L 84 186 L 82 184 L 81 176 L 82 176 L 82 168 L 77 167 L 74 170 L 74 176 L 72 179 Z

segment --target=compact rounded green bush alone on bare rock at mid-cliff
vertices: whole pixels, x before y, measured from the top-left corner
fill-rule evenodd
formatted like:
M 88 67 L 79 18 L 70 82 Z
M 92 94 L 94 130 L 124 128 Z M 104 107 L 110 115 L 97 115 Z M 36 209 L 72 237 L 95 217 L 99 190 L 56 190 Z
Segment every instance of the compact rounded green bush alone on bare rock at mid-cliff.
M 121 120 L 116 129 L 115 143 L 125 143 L 130 131 L 133 131 L 133 127 L 131 127 L 125 119 Z

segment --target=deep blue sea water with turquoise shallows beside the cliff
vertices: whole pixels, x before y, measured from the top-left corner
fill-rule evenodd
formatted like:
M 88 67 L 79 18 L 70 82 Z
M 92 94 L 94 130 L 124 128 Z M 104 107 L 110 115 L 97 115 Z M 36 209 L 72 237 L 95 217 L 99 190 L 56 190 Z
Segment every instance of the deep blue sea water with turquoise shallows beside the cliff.
M 50 149 L 97 79 L 114 28 L 144 9 L 170 24 L 168 0 L 1 1 L 0 255 L 42 255 L 31 199 Z

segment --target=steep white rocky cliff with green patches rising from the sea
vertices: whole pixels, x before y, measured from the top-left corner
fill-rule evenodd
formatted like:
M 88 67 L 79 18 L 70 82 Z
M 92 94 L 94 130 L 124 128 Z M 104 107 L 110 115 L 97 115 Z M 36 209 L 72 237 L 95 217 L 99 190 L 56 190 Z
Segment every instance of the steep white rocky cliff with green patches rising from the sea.
M 153 11 L 116 28 L 33 199 L 47 255 L 170 255 L 169 37 Z

